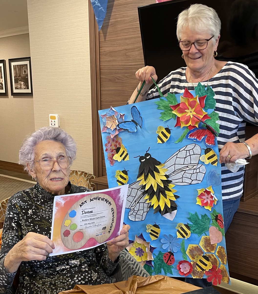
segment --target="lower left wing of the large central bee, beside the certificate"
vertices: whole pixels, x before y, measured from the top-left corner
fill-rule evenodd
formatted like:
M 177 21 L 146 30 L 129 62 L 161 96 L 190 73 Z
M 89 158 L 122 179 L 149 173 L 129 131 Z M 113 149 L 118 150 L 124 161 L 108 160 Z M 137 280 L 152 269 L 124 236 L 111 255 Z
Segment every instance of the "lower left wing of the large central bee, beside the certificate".
M 132 183 L 128 187 L 128 194 L 126 199 L 125 208 L 129 208 L 130 212 L 128 217 L 130 220 L 138 221 L 144 220 L 147 212 L 149 211 L 148 203 L 144 199 L 144 195 L 142 195 L 142 191 L 140 190 L 141 186 L 139 186 L 140 181 Z

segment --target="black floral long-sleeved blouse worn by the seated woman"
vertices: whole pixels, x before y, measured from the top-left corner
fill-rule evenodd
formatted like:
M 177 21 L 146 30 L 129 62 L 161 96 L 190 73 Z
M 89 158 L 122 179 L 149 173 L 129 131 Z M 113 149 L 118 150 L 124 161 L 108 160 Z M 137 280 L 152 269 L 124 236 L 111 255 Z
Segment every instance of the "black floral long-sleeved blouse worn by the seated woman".
M 67 194 L 89 191 L 69 185 L 71 189 Z M 5 255 L 13 245 L 28 232 L 50 238 L 54 197 L 37 183 L 9 199 L 0 250 L 0 293 L 8 292 L 16 274 L 7 273 L 4 268 Z M 44 261 L 24 261 L 20 265 L 20 283 L 16 293 L 54 294 L 72 289 L 76 284 L 112 283 L 111 273 L 117 262 L 113 263 L 108 258 L 106 244 L 69 254 L 48 255 Z

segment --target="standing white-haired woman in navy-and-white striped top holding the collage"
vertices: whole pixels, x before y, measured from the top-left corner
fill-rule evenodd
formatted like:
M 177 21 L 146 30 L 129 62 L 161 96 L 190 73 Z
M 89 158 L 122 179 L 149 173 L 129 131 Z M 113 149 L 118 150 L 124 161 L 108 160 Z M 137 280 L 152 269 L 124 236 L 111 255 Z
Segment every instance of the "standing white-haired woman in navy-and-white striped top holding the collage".
M 183 93 L 185 88 L 194 90 L 198 82 L 209 85 L 215 92 L 215 111 L 220 124 L 218 147 L 224 228 L 227 231 L 242 195 L 244 167 L 232 173 L 225 163 L 235 162 L 237 158 L 250 158 L 258 153 L 258 135 L 245 141 L 245 123 L 258 125 L 258 81 L 247 66 L 214 58 L 217 56 L 220 24 L 216 11 L 206 5 L 193 4 L 182 11 L 178 16 L 176 34 L 186 67 L 170 72 L 158 86 L 163 95 L 168 92 Z M 159 96 L 157 88 L 149 91 L 151 77 L 157 81 L 154 67 L 145 66 L 135 76 L 140 82 L 129 103 L 134 102 L 143 81 L 146 83 L 136 102 Z

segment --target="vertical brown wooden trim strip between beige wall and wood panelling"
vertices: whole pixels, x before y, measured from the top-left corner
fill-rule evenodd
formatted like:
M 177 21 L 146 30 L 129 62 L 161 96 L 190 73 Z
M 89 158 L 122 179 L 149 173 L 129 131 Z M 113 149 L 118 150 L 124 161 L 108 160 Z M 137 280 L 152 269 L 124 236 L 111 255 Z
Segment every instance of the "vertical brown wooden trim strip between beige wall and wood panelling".
M 91 117 L 92 117 L 92 153 L 93 174 L 102 176 L 102 142 L 99 124 L 98 110 L 101 109 L 100 95 L 100 61 L 99 61 L 99 29 L 96 23 L 94 11 L 89 3 L 89 46 L 91 69 Z

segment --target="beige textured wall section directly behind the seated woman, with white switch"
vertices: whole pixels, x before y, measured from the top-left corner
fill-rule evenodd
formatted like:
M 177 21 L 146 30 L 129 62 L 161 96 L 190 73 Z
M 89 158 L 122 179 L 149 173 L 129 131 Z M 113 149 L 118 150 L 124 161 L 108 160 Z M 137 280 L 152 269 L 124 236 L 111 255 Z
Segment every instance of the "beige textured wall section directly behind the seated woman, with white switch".
M 88 1 L 28 0 L 35 128 L 59 114 L 77 142 L 72 169 L 93 172 Z

